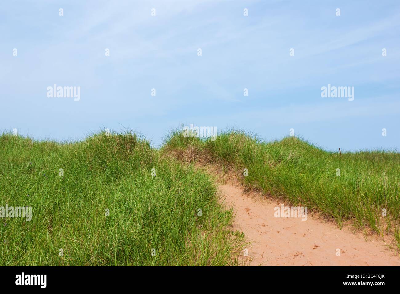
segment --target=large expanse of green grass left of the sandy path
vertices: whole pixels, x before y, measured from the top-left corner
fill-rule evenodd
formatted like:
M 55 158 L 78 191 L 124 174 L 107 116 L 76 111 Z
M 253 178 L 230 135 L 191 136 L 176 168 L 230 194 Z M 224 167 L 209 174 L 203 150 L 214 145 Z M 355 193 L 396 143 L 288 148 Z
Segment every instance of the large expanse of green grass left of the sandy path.
M 4 133 L 0 152 L 0 206 L 32 206 L 30 221 L 0 218 L 0 266 L 238 264 L 244 240 L 226 229 L 232 210 L 210 177 L 141 136 L 61 144 Z

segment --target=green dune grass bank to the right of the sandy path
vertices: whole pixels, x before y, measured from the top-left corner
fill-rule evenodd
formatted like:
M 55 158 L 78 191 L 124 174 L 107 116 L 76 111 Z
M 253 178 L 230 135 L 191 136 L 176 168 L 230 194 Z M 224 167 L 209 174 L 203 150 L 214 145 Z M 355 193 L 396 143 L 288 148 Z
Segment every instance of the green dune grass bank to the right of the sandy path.
M 334 218 L 340 227 L 351 220 L 359 228 L 390 232 L 400 244 L 397 152 L 376 150 L 340 155 L 296 137 L 263 142 L 240 130 L 221 132 L 213 141 L 185 138 L 181 129 L 175 129 L 165 139 L 163 148 L 180 158 L 190 155 L 191 160 L 220 164 L 225 170 L 236 172 L 247 188 L 271 194 L 293 206 L 318 210 Z

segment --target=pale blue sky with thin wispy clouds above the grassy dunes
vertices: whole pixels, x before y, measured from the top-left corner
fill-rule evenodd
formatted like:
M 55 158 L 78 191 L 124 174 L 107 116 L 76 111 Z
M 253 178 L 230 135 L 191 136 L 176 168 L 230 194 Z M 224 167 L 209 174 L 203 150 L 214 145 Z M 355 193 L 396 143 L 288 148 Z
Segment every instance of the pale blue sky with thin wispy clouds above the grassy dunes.
M 265 140 L 294 128 L 329 150 L 399 148 L 399 37 L 399 1 L 6 1 L 0 128 L 132 128 L 156 146 L 181 123 Z M 80 100 L 48 98 L 53 84 L 80 86 Z M 328 84 L 354 100 L 322 98 Z

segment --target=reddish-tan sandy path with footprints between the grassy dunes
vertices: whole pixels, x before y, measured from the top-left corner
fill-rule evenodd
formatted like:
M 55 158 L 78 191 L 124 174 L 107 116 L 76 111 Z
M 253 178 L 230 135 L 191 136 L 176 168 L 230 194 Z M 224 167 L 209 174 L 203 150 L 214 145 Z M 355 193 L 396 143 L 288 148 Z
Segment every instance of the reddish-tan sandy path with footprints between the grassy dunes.
M 399 254 L 378 236 L 339 230 L 310 212 L 306 221 L 276 218 L 274 208 L 280 204 L 275 200 L 246 195 L 239 185 L 220 184 L 220 190 L 225 204 L 237 211 L 232 230 L 243 231 L 252 242 L 252 266 L 400 266 Z

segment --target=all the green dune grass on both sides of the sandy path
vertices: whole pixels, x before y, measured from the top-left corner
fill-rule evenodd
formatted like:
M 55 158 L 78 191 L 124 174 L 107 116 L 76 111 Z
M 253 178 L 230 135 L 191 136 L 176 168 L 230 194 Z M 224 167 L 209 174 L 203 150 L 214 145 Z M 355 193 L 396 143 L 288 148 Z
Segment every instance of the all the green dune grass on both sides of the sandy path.
M 396 152 L 340 155 L 292 137 L 267 143 L 228 130 L 212 141 L 185 138 L 181 129 L 160 150 L 131 132 L 70 143 L 3 133 L 0 152 L 0 206 L 32 207 L 30 221 L 0 218 L 0 266 L 239 264 L 245 237 L 228 230 L 232 208 L 217 201 L 216 184 L 194 161 L 232 170 L 247 188 L 339 226 L 350 220 L 390 232 L 400 244 Z

